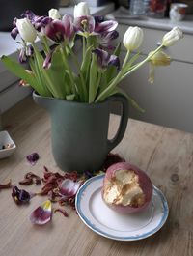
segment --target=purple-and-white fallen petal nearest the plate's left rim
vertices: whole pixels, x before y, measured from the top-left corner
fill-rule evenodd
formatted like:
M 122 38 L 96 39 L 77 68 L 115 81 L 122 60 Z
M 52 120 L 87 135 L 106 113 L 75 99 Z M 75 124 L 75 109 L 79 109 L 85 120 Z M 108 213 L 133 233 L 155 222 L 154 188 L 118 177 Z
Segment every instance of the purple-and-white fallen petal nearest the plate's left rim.
M 59 185 L 60 193 L 68 197 L 74 196 L 80 185 L 80 182 L 73 182 L 70 179 L 66 179 Z

